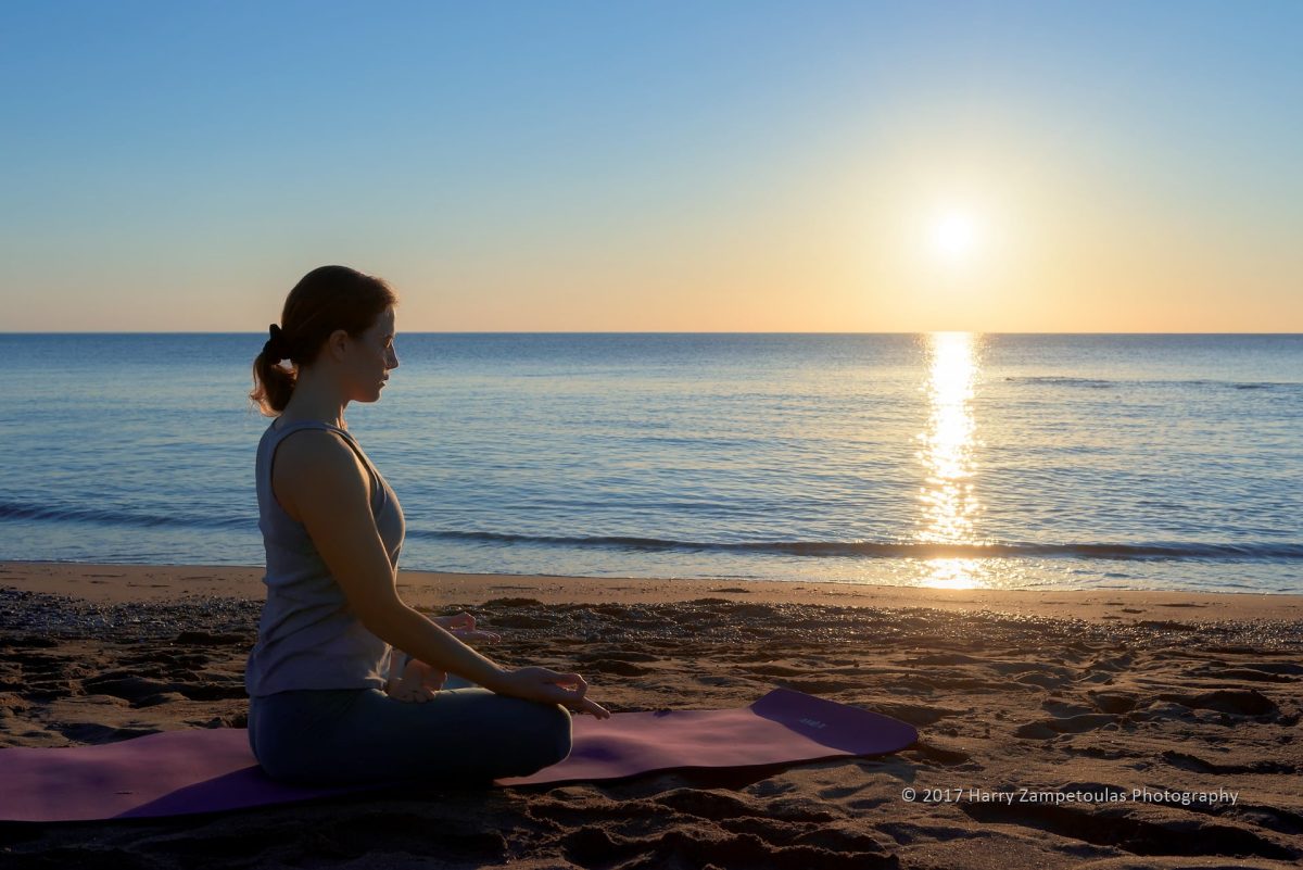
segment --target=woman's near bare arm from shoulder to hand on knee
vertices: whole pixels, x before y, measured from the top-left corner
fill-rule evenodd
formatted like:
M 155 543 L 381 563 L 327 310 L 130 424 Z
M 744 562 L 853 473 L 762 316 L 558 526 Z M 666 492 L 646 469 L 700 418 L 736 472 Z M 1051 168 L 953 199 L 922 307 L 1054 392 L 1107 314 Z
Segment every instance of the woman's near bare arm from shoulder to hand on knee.
M 382 641 L 499 694 L 610 715 L 584 698 L 588 684 L 577 673 L 502 668 L 399 598 L 394 567 L 371 516 L 366 469 L 339 436 L 306 430 L 285 439 L 272 486 L 287 513 L 308 529 L 349 607 Z

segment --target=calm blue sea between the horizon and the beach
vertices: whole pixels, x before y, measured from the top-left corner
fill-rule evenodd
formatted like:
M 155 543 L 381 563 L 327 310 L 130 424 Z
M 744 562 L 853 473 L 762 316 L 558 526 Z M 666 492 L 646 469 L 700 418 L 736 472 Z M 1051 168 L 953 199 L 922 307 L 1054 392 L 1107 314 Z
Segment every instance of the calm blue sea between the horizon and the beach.
M 262 563 L 262 335 L 0 335 L 0 559 Z M 1303 591 L 1303 336 L 400 335 L 409 569 Z

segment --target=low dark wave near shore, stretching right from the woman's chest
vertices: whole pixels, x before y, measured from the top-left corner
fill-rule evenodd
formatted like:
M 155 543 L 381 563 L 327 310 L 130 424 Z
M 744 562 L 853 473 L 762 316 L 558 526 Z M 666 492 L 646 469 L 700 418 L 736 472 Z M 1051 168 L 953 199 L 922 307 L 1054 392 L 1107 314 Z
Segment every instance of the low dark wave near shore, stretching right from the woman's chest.
M 873 540 L 769 540 L 769 542 L 693 542 L 620 535 L 520 535 L 493 531 L 409 530 L 422 538 L 446 540 L 480 540 L 485 543 L 523 543 L 556 547 L 611 547 L 641 551 L 678 552 L 747 552 L 790 556 L 842 556 L 868 559 L 1102 559 L 1102 560 L 1213 560 L 1213 561 L 1285 561 L 1303 559 L 1303 544 L 1287 543 L 885 543 Z

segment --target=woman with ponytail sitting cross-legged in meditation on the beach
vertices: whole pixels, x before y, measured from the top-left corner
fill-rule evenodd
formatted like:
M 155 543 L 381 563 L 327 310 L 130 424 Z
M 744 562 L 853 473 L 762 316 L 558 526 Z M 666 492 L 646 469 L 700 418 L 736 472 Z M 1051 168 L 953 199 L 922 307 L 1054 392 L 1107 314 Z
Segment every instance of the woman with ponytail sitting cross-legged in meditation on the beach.
M 267 602 L 245 688 L 249 745 L 276 779 L 523 776 L 569 753 L 567 707 L 610 715 L 577 673 L 500 667 L 459 639 L 493 638 L 469 615 L 430 620 L 399 599 L 403 511 L 344 423 L 399 365 L 396 302 L 379 279 L 323 266 L 254 361 L 250 399 L 275 419 L 255 464 Z M 412 662 L 387 680 L 391 647 Z M 444 672 L 469 682 L 439 690 Z

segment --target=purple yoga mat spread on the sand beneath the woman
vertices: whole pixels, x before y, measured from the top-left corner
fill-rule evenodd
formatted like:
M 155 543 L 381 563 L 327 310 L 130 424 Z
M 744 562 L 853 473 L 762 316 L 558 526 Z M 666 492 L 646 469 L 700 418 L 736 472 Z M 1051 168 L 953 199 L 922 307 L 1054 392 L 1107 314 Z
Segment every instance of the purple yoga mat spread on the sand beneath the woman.
M 745 767 L 880 755 L 912 725 L 790 689 L 740 710 L 576 716 L 571 755 L 498 785 L 619 779 L 678 767 Z M 410 784 L 410 781 L 405 783 Z M 258 766 L 244 728 L 171 731 L 98 746 L 0 749 L 0 821 L 68 822 L 212 813 L 392 785 L 291 785 Z

